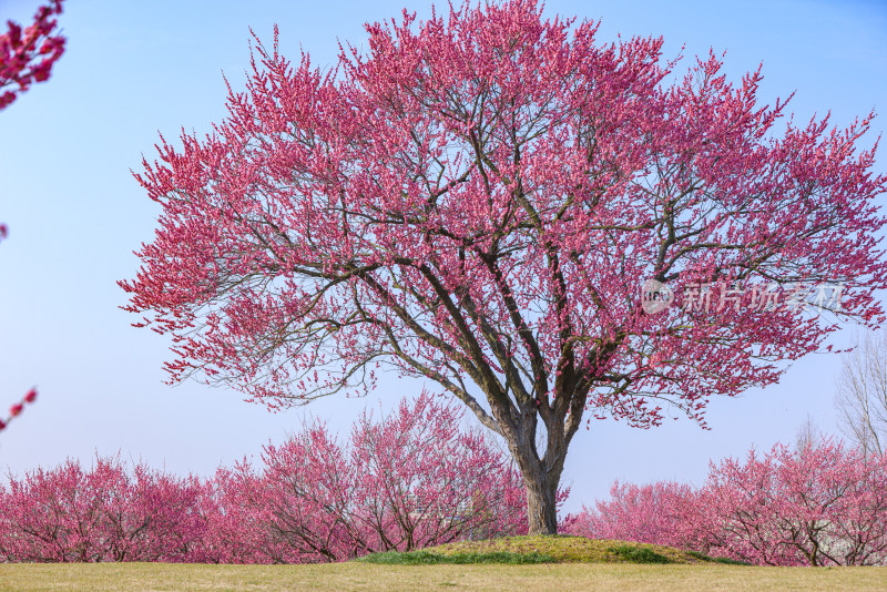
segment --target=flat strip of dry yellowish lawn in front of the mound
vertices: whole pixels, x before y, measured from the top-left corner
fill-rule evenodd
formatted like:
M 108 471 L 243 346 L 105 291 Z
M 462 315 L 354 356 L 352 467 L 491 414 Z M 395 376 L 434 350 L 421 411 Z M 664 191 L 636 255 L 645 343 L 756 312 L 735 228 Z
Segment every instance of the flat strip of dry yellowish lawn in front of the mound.
M 24 590 L 887 590 L 887 568 L 638 565 L 4 564 L 0 591 Z

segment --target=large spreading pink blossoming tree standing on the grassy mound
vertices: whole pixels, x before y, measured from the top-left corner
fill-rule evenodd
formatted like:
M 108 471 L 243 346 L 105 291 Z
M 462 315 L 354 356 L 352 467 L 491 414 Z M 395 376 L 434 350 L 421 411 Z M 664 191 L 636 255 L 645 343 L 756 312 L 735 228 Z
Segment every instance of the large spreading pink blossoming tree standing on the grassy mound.
M 121 286 L 172 336 L 171 381 L 278 407 L 430 379 L 504 439 L 551 533 L 591 417 L 704 425 L 713 395 L 883 318 L 874 115 L 777 125 L 759 70 L 682 75 L 661 38 L 603 43 L 536 0 L 366 30 L 334 70 L 275 30 L 224 123 L 135 175 L 163 212 Z

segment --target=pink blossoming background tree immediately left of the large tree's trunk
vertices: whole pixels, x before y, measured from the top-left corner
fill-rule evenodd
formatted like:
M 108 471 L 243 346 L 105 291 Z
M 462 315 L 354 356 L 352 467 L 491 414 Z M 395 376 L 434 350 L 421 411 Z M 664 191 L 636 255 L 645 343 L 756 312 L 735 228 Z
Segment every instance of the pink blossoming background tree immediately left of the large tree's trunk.
M 366 414 L 351 433 L 363 467 L 356 502 L 376 548 L 410 550 L 457 539 L 527 532 L 520 476 L 482 435 L 460 428 L 462 410 L 422 394 L 395 414 Z M 569 490 L 559 491 L 560 504 Z

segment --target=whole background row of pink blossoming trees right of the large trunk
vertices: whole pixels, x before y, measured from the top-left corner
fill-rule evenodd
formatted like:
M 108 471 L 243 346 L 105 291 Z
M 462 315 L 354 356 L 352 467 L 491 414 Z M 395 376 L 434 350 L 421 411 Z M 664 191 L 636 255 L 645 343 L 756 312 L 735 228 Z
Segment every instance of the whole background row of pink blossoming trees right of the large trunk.
M 563 530 L 764 565 L 887 564 L 887 456 L 820 438 L 712 463 L 700 489 L 614 483 Z

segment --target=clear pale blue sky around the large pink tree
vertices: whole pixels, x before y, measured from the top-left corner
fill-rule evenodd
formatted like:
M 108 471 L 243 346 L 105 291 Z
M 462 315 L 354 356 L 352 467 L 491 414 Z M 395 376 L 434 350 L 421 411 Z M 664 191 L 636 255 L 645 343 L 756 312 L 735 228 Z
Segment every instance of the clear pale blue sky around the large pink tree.
M 52 79 L 0 112 L 0 221 L 10 227 L 0 245 L 0 406 L 34 384 L 40 389 L 39 402 L 0 435 L 0 471 L 120 451 L 206 476 L 279 442 L 307 414 L 344 432 L 366 406 L 387 409 L 418 392 L 421 384 L 388 377 L 366 399 L 334 397 L 269 414 L 233 390 L 165 386 L 169 343 L 130 326 L 115 284 L 134 275 L 132 252 L 152 239 L 160 212 L 130 170 L 141 169 L 142 154 L 153 160 L 159 131 L 167 139 L 181 126 L 203 133 L 224 118 L 222 73 L 243 85 L 249 27 L 271 40 L 277 22 L 285 53 L 296 57 L 302 47 L 327 65 L 339 40 L 359 45 L 363 23 L 397 17 L 402 2 L 65 2 L 60 21 L 69 45 Z M 0 19 L 28 21 L 37 4 L 0 0 Z M 550 1 L 546 10 L 602 19 L 601 40 L 662 34 L 670 57 L 684 44 L 687 57 L 727 50 L 734 80 L 763 61 L 761 96 L 772 104 L 797 91 L 792 110 L 801 121 L 830 109 L 846 125 L 875 109 L 881 116 L 869 142 L 887 129 L 887 3 L 734 4 Z M 430 2 L 407 8 L 421 17 Z M 881 155 L 879 172 L 885 162 Z M 779 385 L 712 401 L 710 431 L 686 419 L 648 431 L 592 423 L 570 450 L 567 508 L 604 496 L 615 479 L 700 483 L 710 459 L 792 441 L 808 414 L 837 431 L 839 366 L 837 356 L 814 354 Z

